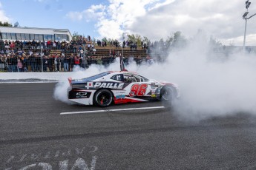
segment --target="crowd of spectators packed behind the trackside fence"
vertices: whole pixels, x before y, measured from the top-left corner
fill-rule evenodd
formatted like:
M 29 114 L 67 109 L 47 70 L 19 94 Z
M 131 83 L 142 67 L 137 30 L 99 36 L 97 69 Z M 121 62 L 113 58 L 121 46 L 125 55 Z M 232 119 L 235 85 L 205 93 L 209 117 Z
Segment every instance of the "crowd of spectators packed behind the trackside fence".
M 97 46 L 106 47 L 106 41 L 96 41 Z M 137 50 L 137 44 L 132 41 L 111 41 L 112 47 L 130 47 Z M 88 38 L 79 36 L 71 41 L 2 41 L 0 40 L 0 71 L 7 72 L 69 72 L 74 67 L 89 67 L 91 64 L 107 66 L 121 55 L 110 50 L 107 56 L 96 55 L 96 48 Z M 144 46 L 143 46 L 144 47 Z M 56 52 L 56 53 L 54 53 Z M 135 61 L 153 62 L 152 58 L 123 58 L 125 64 Z M 149 63 L 149 62 L 148 62 Z

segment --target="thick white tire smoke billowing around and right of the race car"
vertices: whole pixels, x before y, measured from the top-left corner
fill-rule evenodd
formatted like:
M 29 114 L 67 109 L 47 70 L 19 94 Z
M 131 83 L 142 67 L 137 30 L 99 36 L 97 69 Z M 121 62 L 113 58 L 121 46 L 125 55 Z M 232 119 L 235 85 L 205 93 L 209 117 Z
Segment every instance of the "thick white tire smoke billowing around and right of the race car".
M 203 120 L 246 112 L 256 114 L 256 56 L 243 52 L 219 55 L 209 52 L 204 39 L 186 49 L 173 50 L 163 64 L 129 64 L 126 69 L 162 81 L 176 83 L 181 97 L 174 114 L 183 120 Z M 77 69 L 73 78 L 85 78 L 107 70 L 119 70 L 119 61 L 110 67 Z M 68 81 L 56 85 L 54 98 L 68 102 Z

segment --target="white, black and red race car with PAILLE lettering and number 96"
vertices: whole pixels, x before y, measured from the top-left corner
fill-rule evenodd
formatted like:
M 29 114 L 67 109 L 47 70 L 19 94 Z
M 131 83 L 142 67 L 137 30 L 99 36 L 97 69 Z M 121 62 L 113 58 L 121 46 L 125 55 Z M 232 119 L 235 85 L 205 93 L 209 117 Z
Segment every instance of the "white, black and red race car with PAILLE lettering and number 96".
M 177 84 L 156 81 L 136 72 L 108 71 L 88 78 L 68 78 L 68 99 L 100 107 L 112 103 L 173 101 L 179 98 Z

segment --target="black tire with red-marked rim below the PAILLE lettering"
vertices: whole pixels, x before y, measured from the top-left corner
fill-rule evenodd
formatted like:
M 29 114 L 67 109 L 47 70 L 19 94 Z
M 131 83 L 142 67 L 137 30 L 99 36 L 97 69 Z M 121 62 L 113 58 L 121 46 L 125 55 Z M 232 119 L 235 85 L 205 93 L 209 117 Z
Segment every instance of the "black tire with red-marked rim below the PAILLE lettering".
M 95 93 L 93 103 L 96 106 L 107 107 L 113 102 L 113 95 L 108 89 L 100 89 Z

